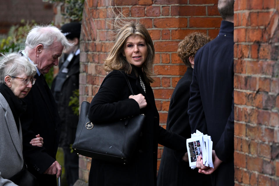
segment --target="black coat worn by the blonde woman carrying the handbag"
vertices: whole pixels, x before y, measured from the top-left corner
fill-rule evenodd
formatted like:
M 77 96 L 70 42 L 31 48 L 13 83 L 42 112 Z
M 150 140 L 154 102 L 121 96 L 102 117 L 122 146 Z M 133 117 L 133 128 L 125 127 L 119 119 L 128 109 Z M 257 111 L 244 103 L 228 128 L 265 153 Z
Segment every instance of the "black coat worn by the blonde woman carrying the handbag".
M 138 69 L 138 71 L 140 71 Z M 120 71 L 112 71 L 105 77 L 98 93 L 92 99 L 88 116 L 94 122 L 112 121 L 128 116 L 145 114 L 145 125 L 132 162 L 126 165 L 92 159 L 89 185 L 156 185 L 158 142 L 177 150 L 186 151 L 186 139 L 168 133 L 159 126 L 159 114 L 151 87 L 146 93 L 140 86 L 139 78 L 132 73 L 128 80 L 135 95 L 145 96 L 147 107 L 140 109 L 131 95 L 128 84 Z

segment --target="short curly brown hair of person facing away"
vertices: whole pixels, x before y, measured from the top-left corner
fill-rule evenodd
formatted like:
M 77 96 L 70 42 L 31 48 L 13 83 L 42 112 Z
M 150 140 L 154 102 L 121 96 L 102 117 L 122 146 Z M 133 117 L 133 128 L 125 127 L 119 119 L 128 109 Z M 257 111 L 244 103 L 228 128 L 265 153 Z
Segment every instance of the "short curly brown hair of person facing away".
M 178 44 L 177 54 L 187 67 L 191 67 L 189 57 L 195 56 L 198 49 L 210 41 L 211 38 L 204 33 L 190 33 Z

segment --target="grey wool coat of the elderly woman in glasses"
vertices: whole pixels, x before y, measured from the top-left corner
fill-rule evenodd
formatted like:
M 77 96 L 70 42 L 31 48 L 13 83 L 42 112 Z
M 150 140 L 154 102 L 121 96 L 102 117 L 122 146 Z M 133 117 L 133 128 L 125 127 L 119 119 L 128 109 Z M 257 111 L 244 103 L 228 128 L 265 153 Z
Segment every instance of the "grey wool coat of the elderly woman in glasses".
M 21 124 L 17 132 L 12 110 L 0 93 L 0 186 L 16 186 L 7 178 L 21 171 L 23 163 Z

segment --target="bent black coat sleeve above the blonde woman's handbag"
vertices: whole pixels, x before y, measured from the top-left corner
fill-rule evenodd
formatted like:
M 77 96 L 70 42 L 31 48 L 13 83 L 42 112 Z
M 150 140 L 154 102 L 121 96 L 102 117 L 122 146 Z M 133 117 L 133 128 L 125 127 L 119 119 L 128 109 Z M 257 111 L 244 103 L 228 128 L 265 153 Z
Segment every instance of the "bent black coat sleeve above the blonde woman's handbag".
M 123 74 L 111 73 L 90 103 L 88 117 L 92 122 L 108 122 L 140 114 L 137 101 L 129 99 L 128 94 L 124 96 L 130 89 Z

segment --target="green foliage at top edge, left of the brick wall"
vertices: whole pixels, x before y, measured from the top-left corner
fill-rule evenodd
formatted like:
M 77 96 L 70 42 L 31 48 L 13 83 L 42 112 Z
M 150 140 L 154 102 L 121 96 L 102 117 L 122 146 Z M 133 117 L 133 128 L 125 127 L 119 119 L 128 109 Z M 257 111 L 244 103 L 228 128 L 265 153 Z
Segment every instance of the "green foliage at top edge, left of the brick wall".
M 44 2 L 49 3 L 64 3 L 65 12 L 62 13 L 64 17 L 67 19 L 71 19 L 73 21 L 81 21 L 82 12 L 84 6 L 84 0 L 42 0 Z

